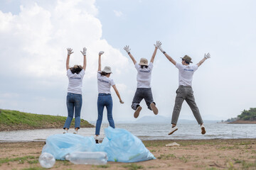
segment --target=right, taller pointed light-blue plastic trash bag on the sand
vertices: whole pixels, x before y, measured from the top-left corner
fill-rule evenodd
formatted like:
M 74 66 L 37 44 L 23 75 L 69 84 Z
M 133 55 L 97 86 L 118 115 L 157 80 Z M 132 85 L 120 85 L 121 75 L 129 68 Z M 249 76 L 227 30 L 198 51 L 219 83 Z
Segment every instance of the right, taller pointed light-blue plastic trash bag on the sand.
M 107 152 L 110 162 L 142 162 L 156 159 L 144 146 L 142 140 L 124 129 L 105 128 L 106 137 L 102 141 L 100 149 Z

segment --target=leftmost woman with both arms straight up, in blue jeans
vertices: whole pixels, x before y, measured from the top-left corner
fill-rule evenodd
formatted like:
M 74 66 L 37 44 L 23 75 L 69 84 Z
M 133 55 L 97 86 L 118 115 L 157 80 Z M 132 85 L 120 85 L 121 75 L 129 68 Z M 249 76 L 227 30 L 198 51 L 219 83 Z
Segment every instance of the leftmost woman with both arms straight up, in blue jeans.
M 82 78 L 85 75 L 86 67 L 86 48 L 83 48 L 82 55 L 84 57 L 83 66 L 75 65 L 74 67 L 69 66 L 70 55 L 73 53 L 71 48 L 68 48 L 68 57 L 66 60 L 66 69 L 68 76 L 68 95 L 67 95 L 67 108 L 68 108 L 68 118 L 65 121 L 63 129 L 64 133 L 68 132 L 70 128 L 70 123 L 74 116 L 75 111 L 75 134 L 78 133 L 80 129 L 80 113 L 82 108 Z

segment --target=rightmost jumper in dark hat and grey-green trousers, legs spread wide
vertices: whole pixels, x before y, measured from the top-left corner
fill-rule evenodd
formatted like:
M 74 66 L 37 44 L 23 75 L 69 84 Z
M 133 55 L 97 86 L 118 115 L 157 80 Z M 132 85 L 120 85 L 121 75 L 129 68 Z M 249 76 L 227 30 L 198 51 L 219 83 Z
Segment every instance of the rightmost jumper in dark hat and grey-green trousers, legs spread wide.
M 169 55 L 166 54 L 166 52 L 161 48 L 161 42 L 157 44 L 159 50 L 164 53 L 166 58 L 174 64 L 178 69 L 178 89 L 176 91 L 176 99 L 175 99 L 175 105 L 174 105 L 174 111 L 171 118 L 171 131 L 168 135 L 173 134 L 176 130 L 178 130 L 178 127 L 176 126 L 178 122 L 178 115 L 181 112 L 181 106 L 183 101 L 185 100 L 188 103 L 188 106 L 191 108 L 193 115 L 195 116 L 198 125 L 201 125 L 201 133 L 204 135 L 206 134 L 206 128 L 203 125 L 203 120 L 201 118 L 201 114 L 199 112 L 198 106 L 196 106 L 195 97 L 193 96 L 193 89 L 192 89 L 192 79 L 193 79 L 193 73 L 196 72 L 199 66 L 203 64 L 208 58 L 210 58 L 210 54 L 205 54 L 203 57 L 203 60 L 198 62 L 198 64 L 191 65 L 191 57 L 188 55 L 185 55 L 184 57 L 181 57 L 181 63 L 176 62 L 173 58 L 171 58 Z

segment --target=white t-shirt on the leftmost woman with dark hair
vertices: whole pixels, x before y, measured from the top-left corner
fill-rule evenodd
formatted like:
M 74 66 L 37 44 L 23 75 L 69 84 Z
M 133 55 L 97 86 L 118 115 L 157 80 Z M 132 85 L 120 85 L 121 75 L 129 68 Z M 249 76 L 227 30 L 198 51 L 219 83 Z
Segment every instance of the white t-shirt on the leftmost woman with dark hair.
M 73 74 L 70 69 L 67 71 L 68 76 L 68 93 L 82 94 L 82 78 L 85 75 L 85 70 L 82 69 L 79 74 Z

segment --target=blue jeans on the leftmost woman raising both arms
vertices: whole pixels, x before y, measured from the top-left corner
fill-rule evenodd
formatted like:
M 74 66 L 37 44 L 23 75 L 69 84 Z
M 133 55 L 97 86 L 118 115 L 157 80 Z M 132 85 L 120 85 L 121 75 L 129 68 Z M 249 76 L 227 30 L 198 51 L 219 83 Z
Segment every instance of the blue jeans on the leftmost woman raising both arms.
M 70 128 L 70 123 L 74 116 L 75 110 L 75 128 L 80 128 L 80 113 L 82 108 L 82 95 L 68 93 L 67 95 L 67 108 L 68 108 L 68 118 L 65 121 L 63 129 Z

